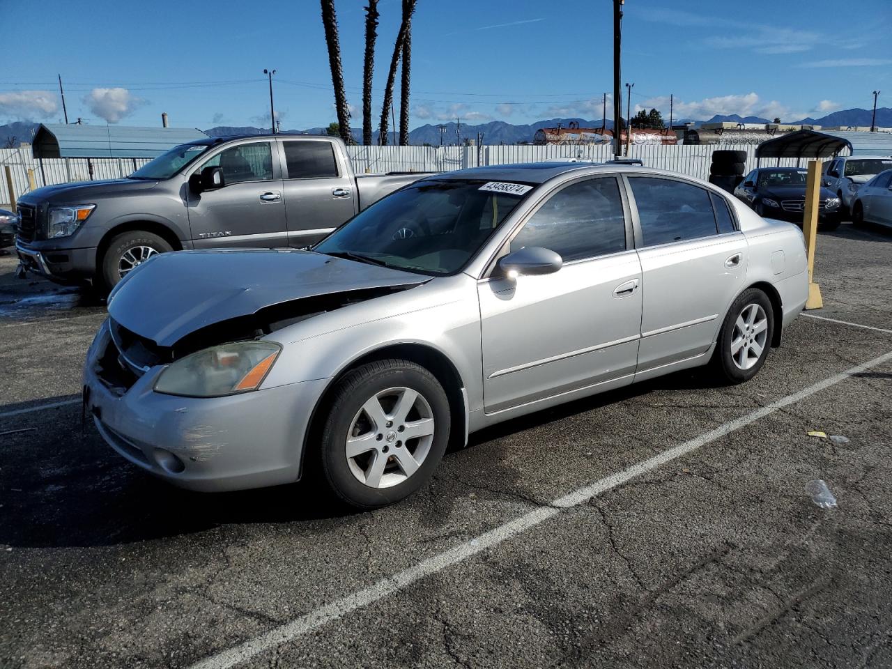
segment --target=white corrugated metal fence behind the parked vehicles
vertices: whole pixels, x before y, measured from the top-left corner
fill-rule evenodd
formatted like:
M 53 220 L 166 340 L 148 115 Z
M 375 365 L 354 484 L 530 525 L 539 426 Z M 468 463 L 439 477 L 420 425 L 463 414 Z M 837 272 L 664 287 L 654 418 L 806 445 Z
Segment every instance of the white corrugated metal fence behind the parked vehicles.
M 709 177 L 713 151 L 724 148 L 746 151 L 747 171 L 756 167 L 756 146 L 753 145 L 632 145 L 630 157 L 640 158 L 648 167 L 669 169 L 690 177 L 706 179 Z M 348 153 L 353 169 L 362 174 L 443 172 L 555 158 L 608 161 L 613 157 L 613 148 L 611 145 L 349 146 Z M 145 158 L 47 158 L 37 161 L 29 149 L 0 149 L 0 207 L 8 206 L 10 202 L 4 174 L 5 165 L 10 166 L 12 188 L 18 197 L 29 192 L 31 179 L 35 186 L 40 187 L 87 181 L 90 178 L 122 178 L 146 162 L 148 159 Z M 765 161 L 765 164 L 775 165 L 777 161 Z M 795 158 L 780 160 L 782 167 L 793 167 L 796 164 Z

